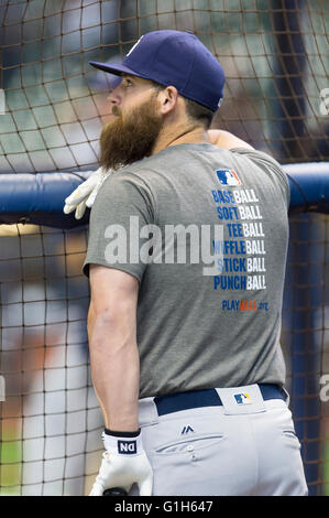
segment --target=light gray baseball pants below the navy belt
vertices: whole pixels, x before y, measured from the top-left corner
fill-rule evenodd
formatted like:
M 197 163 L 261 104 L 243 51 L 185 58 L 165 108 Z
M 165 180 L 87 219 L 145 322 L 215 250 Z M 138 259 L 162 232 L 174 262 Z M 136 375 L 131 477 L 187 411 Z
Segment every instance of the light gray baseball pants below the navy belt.
M 223 404 L 158 416 L 140 400 L 153 495 L 303 496 L 307 485 L 292 413 L 259 386 L 216 389 Z

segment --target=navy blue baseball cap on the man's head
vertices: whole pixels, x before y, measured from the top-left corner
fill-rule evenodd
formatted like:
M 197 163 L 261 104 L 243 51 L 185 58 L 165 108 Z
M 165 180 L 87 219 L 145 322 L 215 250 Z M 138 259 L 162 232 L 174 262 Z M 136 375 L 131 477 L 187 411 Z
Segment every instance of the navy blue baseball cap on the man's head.
M 122 64 L 90 62 L 109 74 L 129 74 L 164 86 L 216 111 L 222 99 L 224 72 L 193 33 L 153 31 L 133 45 Z

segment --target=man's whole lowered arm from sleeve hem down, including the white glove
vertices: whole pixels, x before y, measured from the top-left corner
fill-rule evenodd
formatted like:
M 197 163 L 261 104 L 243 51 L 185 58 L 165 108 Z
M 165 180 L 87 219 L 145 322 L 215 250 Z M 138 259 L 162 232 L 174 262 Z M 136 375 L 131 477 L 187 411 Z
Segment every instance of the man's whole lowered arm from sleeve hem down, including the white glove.
M 140 363 L 136 344 L 139 281 L 124 271 L 90 265 L 88 335 L 92 382 L 105 431 L 105 453 L 90 496 L 138 484 L 152 494 L 152 467 L 139 428 Z

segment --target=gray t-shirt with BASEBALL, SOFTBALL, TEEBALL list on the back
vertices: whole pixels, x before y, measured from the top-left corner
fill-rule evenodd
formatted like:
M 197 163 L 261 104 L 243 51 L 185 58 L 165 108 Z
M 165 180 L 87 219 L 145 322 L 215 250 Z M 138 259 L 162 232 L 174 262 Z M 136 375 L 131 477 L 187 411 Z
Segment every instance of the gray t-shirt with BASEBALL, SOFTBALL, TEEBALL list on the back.
M 84 271 L 140 281 L 141 398 L 284 384 L 288 204 L 274 159 L 208 143 L 169 147 L 105 181 Z

